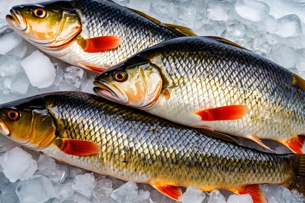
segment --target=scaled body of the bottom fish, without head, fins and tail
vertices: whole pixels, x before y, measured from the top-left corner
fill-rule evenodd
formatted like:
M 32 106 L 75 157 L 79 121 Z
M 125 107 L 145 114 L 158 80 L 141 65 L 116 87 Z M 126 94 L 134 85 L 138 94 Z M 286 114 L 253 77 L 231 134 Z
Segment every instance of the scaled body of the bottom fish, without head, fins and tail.
M 43 152 L 95 172 L 142 183 L 171 180 L 205 191 L 282 183 L 292 175 L 288 155 L 223 142 L 92 95 L 54 94 L 45 96 L 44 102 L 55 117 L 57 136 L 98 143 L 102 152 L 78 157 L 52 145 Z

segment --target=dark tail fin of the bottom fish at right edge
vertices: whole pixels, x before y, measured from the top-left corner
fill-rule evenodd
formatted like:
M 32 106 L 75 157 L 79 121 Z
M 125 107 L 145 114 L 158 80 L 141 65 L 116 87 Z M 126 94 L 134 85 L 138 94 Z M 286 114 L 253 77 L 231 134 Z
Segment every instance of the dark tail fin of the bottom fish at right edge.
M 305 155 L 295 154 L 290 156 L 293 159 L 295 176 L 287 182 L 287 187 L 296 189 L 305 195 Z

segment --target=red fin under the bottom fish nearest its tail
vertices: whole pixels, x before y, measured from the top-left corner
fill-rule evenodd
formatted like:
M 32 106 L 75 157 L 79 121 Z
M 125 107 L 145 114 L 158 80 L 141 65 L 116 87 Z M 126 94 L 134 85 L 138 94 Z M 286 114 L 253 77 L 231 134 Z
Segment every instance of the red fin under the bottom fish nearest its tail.
M 262 193 L 258 184 L 250 184 L 237 191 L 232 191 L 237 195 L 249 194 L 252 197 L 253 203 L 267 203 L 265 195 Z

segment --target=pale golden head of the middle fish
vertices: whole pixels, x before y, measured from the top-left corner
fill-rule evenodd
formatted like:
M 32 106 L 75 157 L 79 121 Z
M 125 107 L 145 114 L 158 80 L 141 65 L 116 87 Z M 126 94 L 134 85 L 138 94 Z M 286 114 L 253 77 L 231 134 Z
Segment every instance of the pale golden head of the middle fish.
M 121 63 L 97 75 L 94 83 L 100 97 L 141 109 L 152 107 L 162 89 L 160 72 L 150 62 Z

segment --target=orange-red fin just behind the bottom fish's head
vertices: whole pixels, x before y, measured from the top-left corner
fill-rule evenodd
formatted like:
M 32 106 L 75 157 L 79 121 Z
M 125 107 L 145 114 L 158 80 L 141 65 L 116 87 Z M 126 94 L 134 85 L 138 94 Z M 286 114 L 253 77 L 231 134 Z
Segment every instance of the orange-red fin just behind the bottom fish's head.
M 100 146 L 91 141 L 57 138 L 54 143 L 66 154 L 87 156 L 101 153 Z

